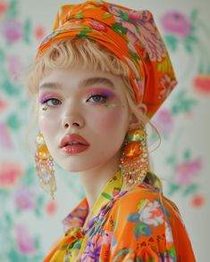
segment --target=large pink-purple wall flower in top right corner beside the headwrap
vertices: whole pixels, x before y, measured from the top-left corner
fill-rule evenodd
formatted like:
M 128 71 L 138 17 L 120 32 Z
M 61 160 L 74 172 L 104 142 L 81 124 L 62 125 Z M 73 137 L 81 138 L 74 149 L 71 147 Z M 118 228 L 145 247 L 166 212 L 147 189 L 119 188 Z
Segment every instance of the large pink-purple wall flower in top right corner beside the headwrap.
M 190 34 L 190 21 L 185 14 L 181 12 L 166 12 L 161 19 L 165 33 L 177 37 L 187 37 Z

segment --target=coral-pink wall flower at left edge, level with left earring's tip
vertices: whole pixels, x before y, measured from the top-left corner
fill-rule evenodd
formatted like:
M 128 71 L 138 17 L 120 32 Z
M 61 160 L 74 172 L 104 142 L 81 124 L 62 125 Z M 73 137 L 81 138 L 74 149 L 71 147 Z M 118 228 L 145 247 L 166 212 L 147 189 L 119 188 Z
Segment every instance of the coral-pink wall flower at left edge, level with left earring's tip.
M 24 170 L 17 162 L 0 162 L 0 188 L 11 188 L 24 174 Z

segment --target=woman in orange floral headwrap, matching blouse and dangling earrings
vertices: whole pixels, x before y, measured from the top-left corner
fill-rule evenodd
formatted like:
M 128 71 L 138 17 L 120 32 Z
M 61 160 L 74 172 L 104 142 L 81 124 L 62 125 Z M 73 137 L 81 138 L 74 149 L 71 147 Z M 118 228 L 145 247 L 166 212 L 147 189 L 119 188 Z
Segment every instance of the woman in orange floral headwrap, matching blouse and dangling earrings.
M 29 74 L 36 169 L 53 195 L 55 160 L 80 176 L 86 198 L 44 261 L 195 261 L 147 155 L 146 124 L 175 85 L 150 12 L 103 1 L 61 7 Z

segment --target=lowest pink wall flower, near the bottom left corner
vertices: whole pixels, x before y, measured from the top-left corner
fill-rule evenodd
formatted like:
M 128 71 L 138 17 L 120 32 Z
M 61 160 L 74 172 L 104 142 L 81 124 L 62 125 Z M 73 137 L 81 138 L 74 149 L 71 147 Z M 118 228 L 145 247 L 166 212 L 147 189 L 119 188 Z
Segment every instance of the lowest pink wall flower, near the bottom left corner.
M 35 242 L 25 225 L 16 226 L 16 241 L 18 250 L 22 254 L 31 254 L 35 251 Z

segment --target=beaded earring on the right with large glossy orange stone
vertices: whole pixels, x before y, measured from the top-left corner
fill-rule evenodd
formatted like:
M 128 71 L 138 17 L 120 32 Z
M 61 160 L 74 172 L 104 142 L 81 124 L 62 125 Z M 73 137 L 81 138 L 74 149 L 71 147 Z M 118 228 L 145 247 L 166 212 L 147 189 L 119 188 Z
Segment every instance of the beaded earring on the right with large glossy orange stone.
M 122 150 L 121 164 L 124 185 L 127 188 L 135 184 L 141 184 L 147 172 L 149 161 L 147 152 L 146 129 L 129 129 L 124 148 Z

